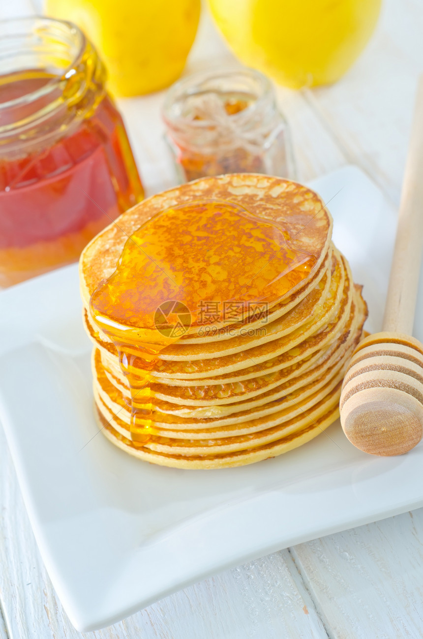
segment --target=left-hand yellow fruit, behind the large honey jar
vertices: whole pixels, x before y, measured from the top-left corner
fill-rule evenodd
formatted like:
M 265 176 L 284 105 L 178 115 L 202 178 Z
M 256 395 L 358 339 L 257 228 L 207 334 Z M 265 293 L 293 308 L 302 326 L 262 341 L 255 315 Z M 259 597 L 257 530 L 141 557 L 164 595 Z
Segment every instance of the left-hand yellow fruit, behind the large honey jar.
M 181 75 L 200 0 L 46 0 L 46 12 L 81 27 L 107 67 L 111 93 L 132 96 Z

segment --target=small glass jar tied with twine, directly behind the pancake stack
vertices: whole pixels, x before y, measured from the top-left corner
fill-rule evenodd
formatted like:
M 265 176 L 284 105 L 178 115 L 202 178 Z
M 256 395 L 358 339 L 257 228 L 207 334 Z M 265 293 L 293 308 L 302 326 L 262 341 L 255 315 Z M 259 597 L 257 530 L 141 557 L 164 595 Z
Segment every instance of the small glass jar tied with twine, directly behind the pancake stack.
M 189 75 L 169 89 L 163 119 L 181 182 L 223 173 L 295 178 L 288 125 L 263 73 Z

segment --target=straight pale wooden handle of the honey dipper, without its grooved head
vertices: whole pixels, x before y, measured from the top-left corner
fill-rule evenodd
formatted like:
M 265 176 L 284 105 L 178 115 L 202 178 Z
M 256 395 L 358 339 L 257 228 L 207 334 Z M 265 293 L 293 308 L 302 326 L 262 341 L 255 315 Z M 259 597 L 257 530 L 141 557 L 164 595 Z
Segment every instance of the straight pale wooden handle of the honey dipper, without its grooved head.
M 411 335 L 423 249 L 423 76 L 417 86 L 383 330 Z

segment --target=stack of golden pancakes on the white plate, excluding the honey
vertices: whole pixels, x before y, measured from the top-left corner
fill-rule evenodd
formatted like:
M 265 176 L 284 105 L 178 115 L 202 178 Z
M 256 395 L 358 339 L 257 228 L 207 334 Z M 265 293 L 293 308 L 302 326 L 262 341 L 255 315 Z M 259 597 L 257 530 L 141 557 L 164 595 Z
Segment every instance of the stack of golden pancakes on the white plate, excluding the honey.
M 116 346 L 89 300 L 111 277 L 128 236 L 169 207 L 199 199 L 240 204 L 277 220 L 315 256 L 307 277 L 259 318 L 204 333 L 193 325 L 151 370 L 153 415 L 145 442 L 131 438 L 131 392 Z M 332 219 L 310 189 L 257 174 L 203 178 L 143 201 L 84 249 L 84 323 L 93 349 L 96 415 L 111 442 L 145 461 L 224 468 L 270 458 L 319 435 L 339 416 L 341 383 L 367 308 L 346 259 L 331 242 Z M 264 327 L 265 330 L 250 330 Z M 246 331 L 245 328 L 249 330 Z

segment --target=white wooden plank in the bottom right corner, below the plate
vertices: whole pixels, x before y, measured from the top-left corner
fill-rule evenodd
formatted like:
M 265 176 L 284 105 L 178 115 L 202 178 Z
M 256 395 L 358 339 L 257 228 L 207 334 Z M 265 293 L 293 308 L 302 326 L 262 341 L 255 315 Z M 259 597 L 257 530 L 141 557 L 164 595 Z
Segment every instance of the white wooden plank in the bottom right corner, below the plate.
M 331 638 L 423 636 L 423 509 L 292 553 Z

